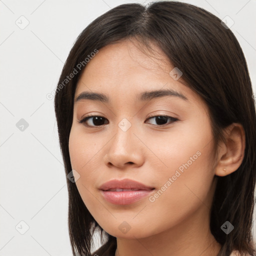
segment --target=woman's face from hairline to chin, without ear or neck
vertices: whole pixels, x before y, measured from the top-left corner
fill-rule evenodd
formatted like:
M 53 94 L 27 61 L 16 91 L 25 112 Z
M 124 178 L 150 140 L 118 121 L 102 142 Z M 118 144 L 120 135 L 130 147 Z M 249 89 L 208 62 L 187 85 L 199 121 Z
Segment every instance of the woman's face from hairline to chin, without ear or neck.
M 75 91 L 75 99 L 84 91 L 108 97 L 104 101 L 87 94 L 74 102 L 69 153 L 84 204 L 116 237 L 142 238 L 175 228 L 208 212 L 214 192 L 208 108 L 154 49 L 161 59 L 129 40 L 101 48 L 86 64 Z M 171 92 L 140 98 L 153 90 Z M 99 187 L 124 178 L 154 189 L 137 192 L 143 194 L 137 200 L 105 199 L 107 192 Z M 111 192 L 114 198 L 124 193 Z

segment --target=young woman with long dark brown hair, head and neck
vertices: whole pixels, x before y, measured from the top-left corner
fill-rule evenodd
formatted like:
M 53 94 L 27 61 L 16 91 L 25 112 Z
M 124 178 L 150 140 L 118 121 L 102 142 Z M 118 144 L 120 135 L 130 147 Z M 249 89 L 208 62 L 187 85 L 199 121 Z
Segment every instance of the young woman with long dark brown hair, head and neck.
M 119 5 L 80 33 L 58 84 L 73 255 L 254 255 L 255 106 L 219 18 Z

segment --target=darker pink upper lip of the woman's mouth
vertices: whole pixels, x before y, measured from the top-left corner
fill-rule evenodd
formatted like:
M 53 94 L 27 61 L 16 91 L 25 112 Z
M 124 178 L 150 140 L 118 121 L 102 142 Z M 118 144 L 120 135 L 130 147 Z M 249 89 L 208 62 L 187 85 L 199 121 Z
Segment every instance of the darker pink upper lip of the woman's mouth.
M 115 189 L 115 188 L 122 188 L 122 189 L 130 189 L 130 188 L 136 188 L 139 190 L 151 190 L 154 187 L 144 185 L 136 180 L 124 178 L 121 180 L 118 179 L 111 179 L 107 182 L 103 183 L 99 189 L 101 190 L 109 190 L 109 189 Z

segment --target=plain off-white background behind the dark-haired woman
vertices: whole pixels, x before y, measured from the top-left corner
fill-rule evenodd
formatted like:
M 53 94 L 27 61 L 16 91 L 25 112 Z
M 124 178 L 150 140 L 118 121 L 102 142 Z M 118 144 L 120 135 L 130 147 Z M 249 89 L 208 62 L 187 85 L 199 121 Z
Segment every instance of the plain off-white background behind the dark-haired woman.
M 0 1 L 2 256 L 71 255 L 65 173 L 53 98 L 46 95 L 54 91 L 78 34 L 100 14 L 127 2 L 149 1 Z M 184 2 L 234 21 L 230 29 L 245 54 L 255 92 L 256 1 Z

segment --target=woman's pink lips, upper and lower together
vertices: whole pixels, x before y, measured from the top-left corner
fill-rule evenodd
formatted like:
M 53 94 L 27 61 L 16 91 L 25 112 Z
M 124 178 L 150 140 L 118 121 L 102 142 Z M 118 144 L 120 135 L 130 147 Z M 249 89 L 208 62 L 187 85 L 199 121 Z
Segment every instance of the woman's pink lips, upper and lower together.
M 128 191 L 109 191 L 109 189 L 138 189 Z M 112 179 L 103 183 L 100 187 L 100 193 L 105 200 L 113 204 L 131 204 L 143 197 L 149 195 L 154 187 L 147 186 L 132 179 Z

